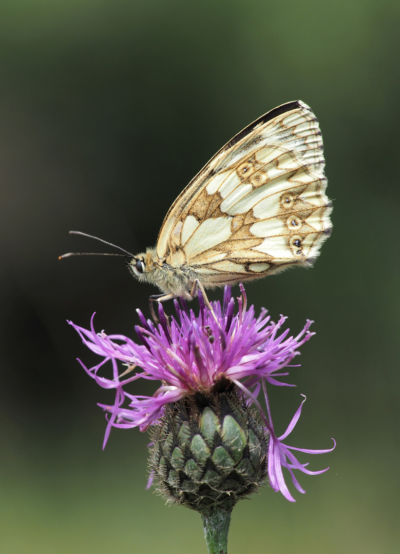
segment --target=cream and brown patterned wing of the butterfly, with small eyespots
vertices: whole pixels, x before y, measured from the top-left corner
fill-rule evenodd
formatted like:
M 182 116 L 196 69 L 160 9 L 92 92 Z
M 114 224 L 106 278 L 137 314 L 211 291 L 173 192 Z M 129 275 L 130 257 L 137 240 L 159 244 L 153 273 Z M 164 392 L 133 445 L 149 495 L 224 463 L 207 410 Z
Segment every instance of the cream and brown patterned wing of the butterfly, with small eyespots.
M 310 265 L 331 231 L 318 121 L 301 101 L 231 139 L 189 183 L 161 227 L 157 254 L 205 286 Z

